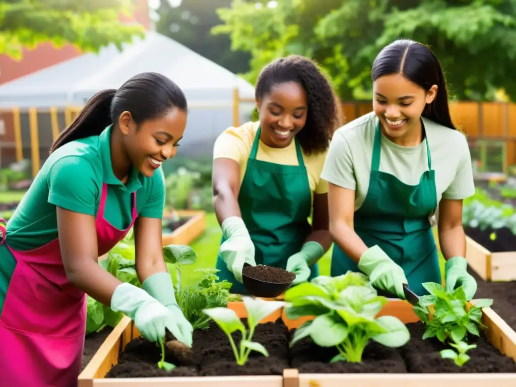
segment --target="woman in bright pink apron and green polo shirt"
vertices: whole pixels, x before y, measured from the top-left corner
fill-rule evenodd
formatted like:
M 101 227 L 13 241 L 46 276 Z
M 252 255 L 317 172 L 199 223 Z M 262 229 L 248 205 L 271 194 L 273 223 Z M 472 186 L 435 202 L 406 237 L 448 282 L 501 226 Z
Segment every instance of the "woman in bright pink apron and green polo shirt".
M 5 385 L 77 384 L 86 295 L 191 346 L 163 259 L 162 163 L 183 137 L 187 103 L 167 77 L 142 73 L 95 94 L 57 138 L 6 227 L 0 224 L 0 364 Z M 1 222 L 0 222 L 1 223 Z M 142 288 L 98 264 L 134 225 Z

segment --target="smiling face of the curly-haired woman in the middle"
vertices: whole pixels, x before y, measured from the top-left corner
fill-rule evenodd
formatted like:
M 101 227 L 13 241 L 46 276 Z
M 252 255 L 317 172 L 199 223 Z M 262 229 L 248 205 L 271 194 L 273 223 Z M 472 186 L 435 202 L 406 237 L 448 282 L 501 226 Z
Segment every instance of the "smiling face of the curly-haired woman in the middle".
M 281 83 L 256 101 L 256 108 L 260 112 L 262 142 L 271 148 L 285 148 L 307 122 L 307 93 L 298 83 Z

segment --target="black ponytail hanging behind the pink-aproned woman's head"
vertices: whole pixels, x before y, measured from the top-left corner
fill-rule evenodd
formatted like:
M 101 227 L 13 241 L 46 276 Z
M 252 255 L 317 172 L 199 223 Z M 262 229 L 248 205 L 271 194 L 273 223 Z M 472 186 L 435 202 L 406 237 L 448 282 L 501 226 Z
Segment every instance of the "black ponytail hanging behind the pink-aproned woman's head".
M 111 102 L 116 92 L 115 89 L 107 89 L 93 95 L 70 126 L 56 138 L 50 153 L 70 141 L 100 135 L 112 123 Z

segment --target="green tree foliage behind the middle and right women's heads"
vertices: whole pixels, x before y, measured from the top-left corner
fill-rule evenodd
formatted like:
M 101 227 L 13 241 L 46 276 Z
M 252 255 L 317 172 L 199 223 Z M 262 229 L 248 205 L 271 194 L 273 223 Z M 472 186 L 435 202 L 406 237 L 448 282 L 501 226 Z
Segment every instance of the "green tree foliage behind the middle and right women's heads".
M 260 3 L 261 6 L 256 6 Z M 489 99 L 505 88 L 516 100 L 516 0 L 233 0 L 218 10 L 233 50 L 250 52 L 254 82 L 270 60 L 315 59 L 342 99 L 370 98 L 370 66 L 400 38 L 428 44 L 459 99 Z M 270 5 L 270 3 L 269 3 Z

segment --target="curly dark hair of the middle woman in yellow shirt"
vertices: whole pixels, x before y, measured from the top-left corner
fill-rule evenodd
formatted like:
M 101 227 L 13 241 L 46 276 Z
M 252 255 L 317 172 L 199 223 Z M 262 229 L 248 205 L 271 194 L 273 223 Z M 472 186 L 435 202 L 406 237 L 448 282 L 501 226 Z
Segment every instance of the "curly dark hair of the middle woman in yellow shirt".
M 300 55 L 289 55 L 265 66 L 255 87 L 255 98 L 261 100 L 273 86 L 296 82 L 307 92 L 307 122 L 297 134 L 307 154 L 325 152 L 333 132 L 342 125 L 342 106 L 330 82 L 315 61 Z

